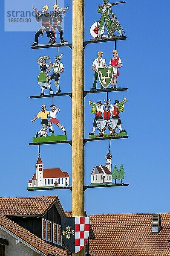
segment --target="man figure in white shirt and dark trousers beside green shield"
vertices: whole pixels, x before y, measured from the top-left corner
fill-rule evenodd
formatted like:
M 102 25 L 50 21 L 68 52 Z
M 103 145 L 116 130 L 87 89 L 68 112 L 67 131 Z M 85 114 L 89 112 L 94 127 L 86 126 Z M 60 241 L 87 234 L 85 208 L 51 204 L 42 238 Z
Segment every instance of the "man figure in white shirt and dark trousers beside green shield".
M 94 73 L 94 82 L 91 90 L 96 89 L 96 85 L 98 81 L 98 68 L 106 67 L 106 60 L 102 58 L 102 56 L 103 56 L 103 52 L 98 52 L 98 58 L 96 58 L 92 64 L 92 70 L 95 71 L 95 73 Z M 103 88 L 102 85 L 101 85 L 101 88 Z

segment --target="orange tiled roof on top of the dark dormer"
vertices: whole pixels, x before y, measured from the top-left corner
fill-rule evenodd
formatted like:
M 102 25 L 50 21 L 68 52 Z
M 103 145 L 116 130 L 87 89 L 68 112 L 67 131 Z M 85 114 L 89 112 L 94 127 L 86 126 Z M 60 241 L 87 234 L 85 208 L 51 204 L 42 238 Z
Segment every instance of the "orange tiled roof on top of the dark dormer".
M 61 206 L 58 196 L 0 198 L 0 212 L 6 216 L 43 215 L 55 202 Z

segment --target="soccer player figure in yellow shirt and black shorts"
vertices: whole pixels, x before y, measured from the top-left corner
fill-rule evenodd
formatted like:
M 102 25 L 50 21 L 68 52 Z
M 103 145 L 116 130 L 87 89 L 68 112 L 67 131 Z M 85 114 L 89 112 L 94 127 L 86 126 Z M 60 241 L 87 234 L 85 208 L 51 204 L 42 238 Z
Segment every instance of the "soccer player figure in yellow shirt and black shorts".
M 31 120 L 31 122 L 34 122 L 39 117 L 42 119 L 41 125 L 43 126 L 43 128 L 41 128 L 40 131 L 38 131 L 36 133 L 36 135 L 35 135 L 36 138 L 38 137 L 39 134 L 40 134 L 40 137 L 43 137 L 43 132 L 46 131 L 49 127 L 49 125 L 48 125 L 49 121 L 47 119 L 47 117 L 49 115 L 49 111 L 46 110 L 46 106 L 44 104 L 41 106 L 41 108 L 42 108 L 42 110 L 39 113 L 37 113 L 37 116 L 35 116 L 34 119 Z

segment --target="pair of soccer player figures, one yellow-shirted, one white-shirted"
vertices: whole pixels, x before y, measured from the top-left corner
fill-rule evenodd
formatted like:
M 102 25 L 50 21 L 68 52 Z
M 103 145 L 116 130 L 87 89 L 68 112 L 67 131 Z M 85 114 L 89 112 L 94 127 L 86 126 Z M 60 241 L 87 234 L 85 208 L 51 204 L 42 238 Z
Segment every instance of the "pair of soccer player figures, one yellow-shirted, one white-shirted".
M 37 138 L 39 134 L 40 134 L 40 137 L 43 137 L 43 132 L 46 131 L 48 128 L 49 128 L 49 132 L 54 133 L 53 124 L 57 125 L 66 135 L 67 132 L 64 126 L 61 125 L 60 121 L 56 118 L 56 114 L 60 112 L 60 109 L 55 107 L 54 104 L 50 106 L 51 111 L 47 111 L 46 106 L 44 104 L 41 106 L 41 108 L 42 110 L 39 113 L 37 113 L 34 119 L 31 120 L 31 122 L 34 122 L 39 117 L 42 119 L 41 125 L 43 128 L 41 128 L 40 131 L 36 133 L 35 137 Z

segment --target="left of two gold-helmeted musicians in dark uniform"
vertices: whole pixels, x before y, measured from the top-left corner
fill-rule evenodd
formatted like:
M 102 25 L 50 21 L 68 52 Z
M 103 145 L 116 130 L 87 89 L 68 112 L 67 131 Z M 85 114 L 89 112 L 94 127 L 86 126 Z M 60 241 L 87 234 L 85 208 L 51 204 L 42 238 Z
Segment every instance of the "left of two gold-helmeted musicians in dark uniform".
M 43 6 L 42 9 L 42 14 L 38 15 L 37 14 L 37 10 L 35 9 L 35 18 L 37 20 L 37 22 L 40 22 L 42 20 L 42 25 L 40 27 L 40 29 L 37 30 L 37 32 L 35 33 L 35 40 L 34 43 L 32 44 L 32 46 L 36 46 L 38 44 L 38 38 L 39 35 L 43 35 L 43 32 L 46 31 L 46 35 L 48 36 L 49 40 L 51 41 L 51 45 L 55 44 L 55 37 L 52 37 L 51 34 L 51 29 L 53 30 L 52 27 L 52 16 L 49 14 L 48 12 L 49 6 Z

